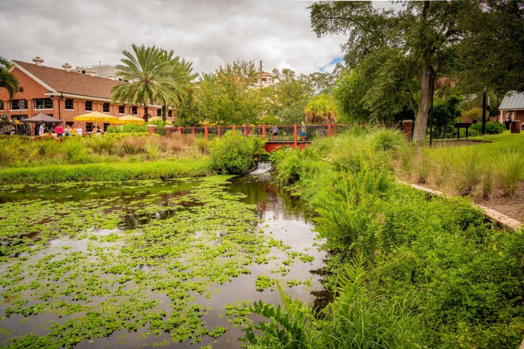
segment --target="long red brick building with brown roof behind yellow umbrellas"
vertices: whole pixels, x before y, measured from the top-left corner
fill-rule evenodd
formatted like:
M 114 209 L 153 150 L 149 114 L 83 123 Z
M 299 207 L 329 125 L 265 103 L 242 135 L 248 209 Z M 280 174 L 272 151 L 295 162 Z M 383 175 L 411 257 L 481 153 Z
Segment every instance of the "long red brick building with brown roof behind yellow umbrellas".
M 30 118 L 44 112 L 54 118 L 63 120 L 63 126 L 81 126 L 90 131 L 91 122 L 75 122 L 73 118 L 86 112 L 100 111 L 115 117 L 127 114 L 144 117 L 143 106 L 126 104 L 119 106 L 111 103 L 111 88 L 125 84 L 117 78 L 80 74 L 71 71 L 71 65 L 62 65 L 63 69 L 43 66 L 39 57 L 34 63 L 11 61 L 11 73 L 18 78 L 20 90 L 13 100 L 5 88 L 0 88 L 0 114 L 6 112 L 13 119 Z M 150 116 L 161 116 L 161 106 L 148 107 Z M 168 120 L 173 120 L 173 111 L 168 111 Z M 102 126 L 101 124 L 99 124 Z M 36 125 L 30 125 L 34 134 Z M 109 126 L 104 123 L 104 129 Z

